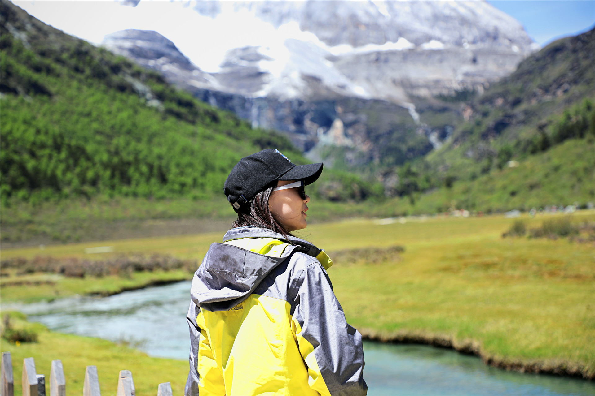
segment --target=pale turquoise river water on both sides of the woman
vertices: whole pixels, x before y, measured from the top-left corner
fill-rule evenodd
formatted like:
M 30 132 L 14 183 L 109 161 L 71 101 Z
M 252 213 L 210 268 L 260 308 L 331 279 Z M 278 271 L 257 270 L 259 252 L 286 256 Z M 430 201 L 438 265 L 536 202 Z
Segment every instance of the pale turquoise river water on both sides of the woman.
M 184 281 L 14 308 L 54 331 L 129 341 L 151 356 L 187 359 L 189 290 Z M 449 349 L 367 342 L 364 353 L 369 395 L 595 395 L 593 382 L 507 372 Z

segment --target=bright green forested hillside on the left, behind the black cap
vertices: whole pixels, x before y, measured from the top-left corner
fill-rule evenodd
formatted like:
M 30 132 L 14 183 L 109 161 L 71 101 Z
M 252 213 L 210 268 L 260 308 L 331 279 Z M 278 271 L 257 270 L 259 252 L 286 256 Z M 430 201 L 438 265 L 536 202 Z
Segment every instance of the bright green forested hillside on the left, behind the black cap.
M 161 75 L 1 5 L 2 200 L 208 198 L 262 148 L 304 161 Z

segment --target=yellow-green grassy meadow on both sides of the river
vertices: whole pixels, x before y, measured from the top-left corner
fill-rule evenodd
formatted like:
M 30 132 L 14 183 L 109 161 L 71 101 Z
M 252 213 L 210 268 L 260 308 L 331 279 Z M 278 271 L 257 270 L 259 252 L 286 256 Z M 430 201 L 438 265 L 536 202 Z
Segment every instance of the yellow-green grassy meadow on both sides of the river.
M 593 211 L 579 211 L 572 215 L 572 221 L 593 221 L 594 215 Z M 560 216 L 525 215 L 521 219 L 530 229 Z M 339 251 L 346 249 L 405 248 L 393 260 L 378 264 L 337 260 L 328 271 L 347 320 L 368 337 L 447 340 L 459 350 L 481 354 L 484 360 L 500 366 L 521 369 L 533 365 L 550 371 L 564 368 L 593 378 L 593 242 L 503 238 L 502 233 L 515 220 L 503 216 L 409 217 L 381 225 L 378 220 L 352 219 L 312 224 L 299 235 L 325 248 L 331 258 L 333 251 L 337 257 L 345 256 Z M 203 233 L 73 243 L 46 246 L 43 251 L 3 249 L 1 258 L 43 254 L 102 259 L 142 252 L 200 260 L 209 244 L 221 236 Z M 94 246 L 113 246 L 114 252 L 84 253 L 85 248 Z M 179 270 L 128 277 L 67 278 L 60 274 L 18 275 L 8 268 L 2 270 L 0 297 L 6 306 L 69 294 L 116 292 L 191 276 Z M 46 330 L 40 331 L 38 343 L 16 346 L 2 339 L 1 349 L 11 351 L 17 379 L 24 357 L 35 357 L 42 373 L 49 373 L 52 359 L 62 359 L 70 389 L 82 387 L 86 365 L 98 366 L 106 394 L 115 391 L 119 369 L 133 372 L 139 395 L 155 392 L 156 385 L 165 381 L 171 381 L 174 393 L 180 393 L 187 375 L 186 362 L 156 359 L 110 341 Z M 17 394 L 19 387 L 15 384 Z

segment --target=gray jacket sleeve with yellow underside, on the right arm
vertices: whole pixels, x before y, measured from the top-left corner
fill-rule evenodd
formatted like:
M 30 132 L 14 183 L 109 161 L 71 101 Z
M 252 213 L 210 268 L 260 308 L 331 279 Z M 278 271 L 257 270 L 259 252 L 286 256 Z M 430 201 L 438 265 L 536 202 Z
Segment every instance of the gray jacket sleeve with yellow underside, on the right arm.
M 306 267 L 290 292 L 292 328 L 310 387 L 321 395 L 366 395 L 362 336 L 347 324 L 324 268 L 318 262 Z

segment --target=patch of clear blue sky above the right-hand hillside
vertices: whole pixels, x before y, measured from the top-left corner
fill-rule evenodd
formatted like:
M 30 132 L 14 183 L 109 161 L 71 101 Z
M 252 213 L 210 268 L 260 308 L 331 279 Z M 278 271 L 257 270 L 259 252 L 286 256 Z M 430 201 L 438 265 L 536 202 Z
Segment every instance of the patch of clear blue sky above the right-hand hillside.
M 595 24 L 595 0 L 488 0 L 506 12 L 542 47 Z

